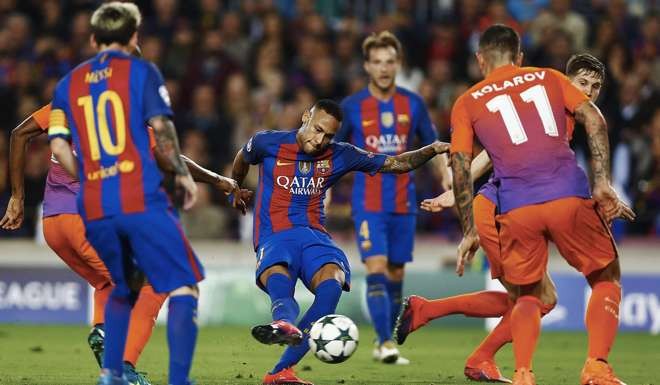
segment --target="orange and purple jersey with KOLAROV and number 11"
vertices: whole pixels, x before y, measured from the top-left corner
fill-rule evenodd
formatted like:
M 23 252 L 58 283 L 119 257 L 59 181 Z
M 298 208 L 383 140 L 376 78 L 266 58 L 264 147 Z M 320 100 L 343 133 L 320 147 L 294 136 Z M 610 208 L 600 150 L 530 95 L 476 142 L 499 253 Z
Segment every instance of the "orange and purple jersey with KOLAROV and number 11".
M 568 196 L 588 198 L 566 119 L 586 101 L 558 71 L 499 67 L 454 104 L 451 151 L 471 154 L 478 137 L 493 162 L 502 213 Z

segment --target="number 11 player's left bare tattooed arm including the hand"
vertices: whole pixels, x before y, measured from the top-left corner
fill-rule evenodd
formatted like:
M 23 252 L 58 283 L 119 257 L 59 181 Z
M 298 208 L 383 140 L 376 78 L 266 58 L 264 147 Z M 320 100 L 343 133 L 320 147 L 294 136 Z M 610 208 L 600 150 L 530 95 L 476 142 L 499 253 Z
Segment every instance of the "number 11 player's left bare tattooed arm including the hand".
M 463 240 L 458 245 L 456 273 L 463 275 L 465 263 L 472 260 L 479 248 L 479 235 L 472 214 L 473 183 L 470 171 L 472 155 L 456 152 L 451 155 L 451 169 L 454 176 L 456 208 L 463 229 Z

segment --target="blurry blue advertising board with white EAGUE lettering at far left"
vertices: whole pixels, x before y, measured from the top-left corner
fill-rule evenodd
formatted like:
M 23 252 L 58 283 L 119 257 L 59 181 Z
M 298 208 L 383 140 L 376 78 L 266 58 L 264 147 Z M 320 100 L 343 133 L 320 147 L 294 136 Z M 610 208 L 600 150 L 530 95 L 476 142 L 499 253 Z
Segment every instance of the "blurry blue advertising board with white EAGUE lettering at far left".
M 87 323 L 88 284 L 66 268 L 0 269 L 0 322 Z

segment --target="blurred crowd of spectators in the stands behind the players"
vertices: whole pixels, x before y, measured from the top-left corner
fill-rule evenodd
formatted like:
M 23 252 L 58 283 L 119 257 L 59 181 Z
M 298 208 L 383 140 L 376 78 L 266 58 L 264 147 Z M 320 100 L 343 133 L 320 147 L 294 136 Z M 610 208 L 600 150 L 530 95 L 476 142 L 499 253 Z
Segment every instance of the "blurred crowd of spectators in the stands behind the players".
M 58 79 L 93 56 L 89 19 L 99 1 L 0 0 L 0 213 L 10 196 L 11 129 L 49 102 Z M 300 125 L 318 98 L 341 101 L 366 86 L 360 45 L 390 30 L 405 57 L 400 86 L 426 101 L 442 140 L 457 96 L 481 79 L 479 34 L 493 23 L 522 36 L 525 64 L 563 71 L 576 52 L 607 67 L 598 105 L 607 118 L 616 188 L 638 219 L 619 236 L 660 236 L 660 2 L 657 0 L 145 0 L 140 45 L 166 78 L 183 153 L 229 175 L 255 132 Z M 574 147 L 587 166 L 584 135 Z M 29 146 L 26 223 L 0 236 L 31 236 L 38 222 L 49 150 Z M 417 173 L 418 198 L 442 192 Z M 256 178 L 250 180 L 254 186 Z M 345 226 L 350 178 L 333 190 L 330 225 Z M 223 195 L 202 187 L 184 214 L 193 238 L 237 238 L 239 220 Z M 247 221 L 243 221 L 243 224 Z M 459 236 L 455 215 L 420 214 L 419 231 Z M 245 236 L 248 231 L 243 231 Z

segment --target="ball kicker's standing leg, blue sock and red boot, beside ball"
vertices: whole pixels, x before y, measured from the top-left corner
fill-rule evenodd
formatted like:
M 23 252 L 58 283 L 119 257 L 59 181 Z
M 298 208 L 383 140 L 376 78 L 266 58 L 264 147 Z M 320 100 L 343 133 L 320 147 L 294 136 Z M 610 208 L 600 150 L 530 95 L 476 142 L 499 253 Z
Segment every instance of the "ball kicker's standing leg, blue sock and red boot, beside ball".
M 325 265 L 323 269 L 339 269 L 336 265 Z M 335 274 L 330 274 L 334 276 Z M 280 361 L 275 365 L 273 370 L 266 374 L 263 380 L 264 385 L 280 385 L 280 384 L 301 384 L 310 385 L 310 382 L 301 380 L 295 375 L 293 366 L 296 365 L 309 350 L 307 339 L 309 338 L 309 330 L 313 322 L 319 318 L 332 314 L 337 308 L 339 298 L 341 297 L 342 284 L 335 278 L 329 278 L 320 281 L 316 285 L 314 303 L 310 306 L 309 310 L 300 320 L 298 328 L 303 330 L 304 339 L 300 345 L 289 346 L 282 354 Z

